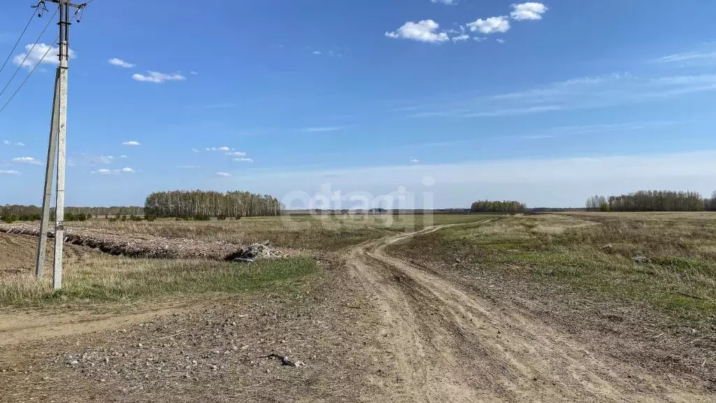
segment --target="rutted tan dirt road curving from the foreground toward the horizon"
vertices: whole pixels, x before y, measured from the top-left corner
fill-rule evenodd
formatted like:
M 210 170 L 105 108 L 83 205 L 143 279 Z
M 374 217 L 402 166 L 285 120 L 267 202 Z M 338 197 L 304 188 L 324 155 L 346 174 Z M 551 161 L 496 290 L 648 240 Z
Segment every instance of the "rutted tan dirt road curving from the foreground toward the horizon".
M 414 234 L 367 242 L 348 264 L 382 313 L 395 351 L 392 402 L 714 402 L 695 379 L 649 374 L 509 303 L 495 304 L 387 255 Z M 387 383 L 384 378 L 371 381 Z

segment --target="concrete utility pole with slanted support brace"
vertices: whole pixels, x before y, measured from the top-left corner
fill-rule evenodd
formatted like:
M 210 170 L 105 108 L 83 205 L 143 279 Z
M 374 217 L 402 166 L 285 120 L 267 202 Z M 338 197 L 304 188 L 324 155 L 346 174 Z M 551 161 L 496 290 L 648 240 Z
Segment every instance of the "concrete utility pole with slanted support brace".
M 62 288 L 62 251 L 64 247 L 64 167 L 67 154 L 67 70 L 69 70 L 69 26 L 72 24 L 70 9 L 74 15 L 84 11 L 87 3 L 72 4 L 69 0 L 47 0 L 59 7 L 59 66 L 55 75 L 54 101 L 52 103 L 52 119 L 50 122 L 49 146 L 47 148 L 47 166 L 45 170 L 44 194 L 42 199 L 42 221 L 40 237 L 37 244 L 37 266 L 35 275 L 42 277 L 44 266 L 47 229 L 49 227 L 50 195 L 52 194 L 52 174 L 54 157 L 57 153 L 57 188 L 56 188 L 56 219 L 54 224 L 54 262 L 52 265 L 52 287 Z M 45 0 L 40 0 L 37 8 L 44 9 Z M 81 18 L 81 15 L 80 15 Z M 79 22 L 79 18 L 77 19 Z

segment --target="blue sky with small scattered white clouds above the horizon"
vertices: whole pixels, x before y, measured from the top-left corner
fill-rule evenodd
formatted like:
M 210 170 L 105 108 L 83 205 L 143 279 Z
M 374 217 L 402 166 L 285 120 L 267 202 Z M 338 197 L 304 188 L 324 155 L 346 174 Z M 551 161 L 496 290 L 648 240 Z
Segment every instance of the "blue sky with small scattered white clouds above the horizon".
M 2 60 L 30 5 L 5 6 Z M 402 186 L 415 207 L 710 194 L 715 12 L 707 0 L 95 0 L 71 31 L 67 203 L 142 204 L 164 189 Z M 0 112 L 1 204 L 41 201 L 55 64 Z

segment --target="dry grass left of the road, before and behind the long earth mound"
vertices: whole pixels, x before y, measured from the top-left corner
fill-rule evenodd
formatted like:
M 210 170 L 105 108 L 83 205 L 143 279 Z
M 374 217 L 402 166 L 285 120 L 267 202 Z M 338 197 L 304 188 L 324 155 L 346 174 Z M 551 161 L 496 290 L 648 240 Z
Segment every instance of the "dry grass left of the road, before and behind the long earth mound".
M 155 222 L 92 219 L 70 226 L 101 229 L 117 234 L 153 234 L 203 242 L 247 244 L 270 240 L 279 247 L 332 251 L 394 231 L 412 231 L 433 223 L 427 216 L 351 215 L 326 217 L 251 217 L 227 221 Z M 475 215 L 441 214 L 434 221 L 470 222 Z M 59 302 L 116 302 L 166 295 L 234 293 L 292 280 L 316 270 L 310 257 L 261 260 L 253 265 L 208 260 L 148 260 L 102 255 L 81 247 L 68 247 L 64 288 L 53 292 L 51 272 L 42 280 L 32 275 L 34 237 L 4 235 L 0 252 L 12 267 L 0 262 L 0 306 L 44 305 Z M 5 270 L 7 269 L 7 270 Z M 48 270 L 49 267 L 46 267 Z M 49 271 L 49 270 L 48 270 Z

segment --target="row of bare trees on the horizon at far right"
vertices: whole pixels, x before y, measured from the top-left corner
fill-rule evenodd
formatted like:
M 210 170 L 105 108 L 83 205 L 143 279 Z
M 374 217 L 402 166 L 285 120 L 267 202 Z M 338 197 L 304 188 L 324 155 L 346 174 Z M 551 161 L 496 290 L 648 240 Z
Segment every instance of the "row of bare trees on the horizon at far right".
M 612 212 L 700 212 L 716 210 L 716 191 L 704 199 L 695 191 L 642 190 L 621 196 L 591 196 L 590 210 Z

